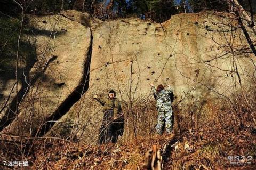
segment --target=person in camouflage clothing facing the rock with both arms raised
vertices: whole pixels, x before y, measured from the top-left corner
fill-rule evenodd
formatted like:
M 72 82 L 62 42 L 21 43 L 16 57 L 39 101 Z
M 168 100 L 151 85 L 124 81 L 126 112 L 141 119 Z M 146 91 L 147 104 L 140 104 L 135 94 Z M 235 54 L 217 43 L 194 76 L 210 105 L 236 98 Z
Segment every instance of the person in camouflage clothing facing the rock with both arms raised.
M 173 93 L 171 85 L 168 85 L 167 90 L 164 89 L 162 84 L 158 85 L 157 88 L 153 84 L 153 95 L 156 99 L 156 108 L 158 112 L 156 131 L 158 134 L 162 134 L 163 125 L 165 123 L 165 131 L 167 133 L 172 132 L 172 101 L 171 94 Z

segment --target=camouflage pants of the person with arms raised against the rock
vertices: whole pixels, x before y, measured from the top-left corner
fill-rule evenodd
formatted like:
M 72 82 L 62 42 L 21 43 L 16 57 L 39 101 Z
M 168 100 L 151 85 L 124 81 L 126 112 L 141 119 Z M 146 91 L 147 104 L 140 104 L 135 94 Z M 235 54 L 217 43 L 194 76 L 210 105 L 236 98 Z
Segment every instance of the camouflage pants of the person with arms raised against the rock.
M 156 131 L 158 134 L 163 133 L 164 125 L 165 131 L 171 133 L 172 131 L 172 114 L 173 110 L 171 106 L 162 106 L 158 108 L 158 117 Z

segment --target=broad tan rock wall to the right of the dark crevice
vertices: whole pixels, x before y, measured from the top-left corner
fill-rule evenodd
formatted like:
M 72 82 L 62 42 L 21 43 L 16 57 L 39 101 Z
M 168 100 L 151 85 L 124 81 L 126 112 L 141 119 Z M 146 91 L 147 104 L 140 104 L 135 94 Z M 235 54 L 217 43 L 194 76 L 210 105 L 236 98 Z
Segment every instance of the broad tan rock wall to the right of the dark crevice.
M 95 141 L 102 108 L 92 96 L 107 95 L 110 89 L 124 103 L 135 103 L 152 98 L 150 83 L 171 83 L 174 104 L 184 108 L 193 103 L 194 111 L 203 111 L 206 101 L 218 104 L 217 96 L 230 97 L 237 84 L 234 61 L 243 75 L 253 76 L 254 68 L 248 54 L 235 52 L 232 59 L 230 46 L 246 44 L 240 29 L 225 26 L 237 26 L 232 22 L 206 12 L 174 15 L 162 24 L 134 18 L 95 23 L 89 90 L 60 119 L 74 125 L 55 124 L 49 135 Z

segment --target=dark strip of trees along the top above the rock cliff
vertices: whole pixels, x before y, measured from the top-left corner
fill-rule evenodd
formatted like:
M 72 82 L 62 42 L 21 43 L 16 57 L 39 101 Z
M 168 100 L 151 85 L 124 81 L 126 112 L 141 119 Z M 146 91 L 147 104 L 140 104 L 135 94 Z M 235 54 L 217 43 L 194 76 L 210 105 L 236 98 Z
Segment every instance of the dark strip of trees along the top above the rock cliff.
M 87 12 L 99 19 L 139 17 L 164 22 L 178 13 L 196 13 L 203 10 L 229 11 L 227 0 L 17 0 L 25 13 L 55 14 L 61 10 Z M 255 0 L 238 1 L 246 11 L 256 12 Z M 18 14 L 20 6 L 14 1 L 0 0 L 0 11 Z

